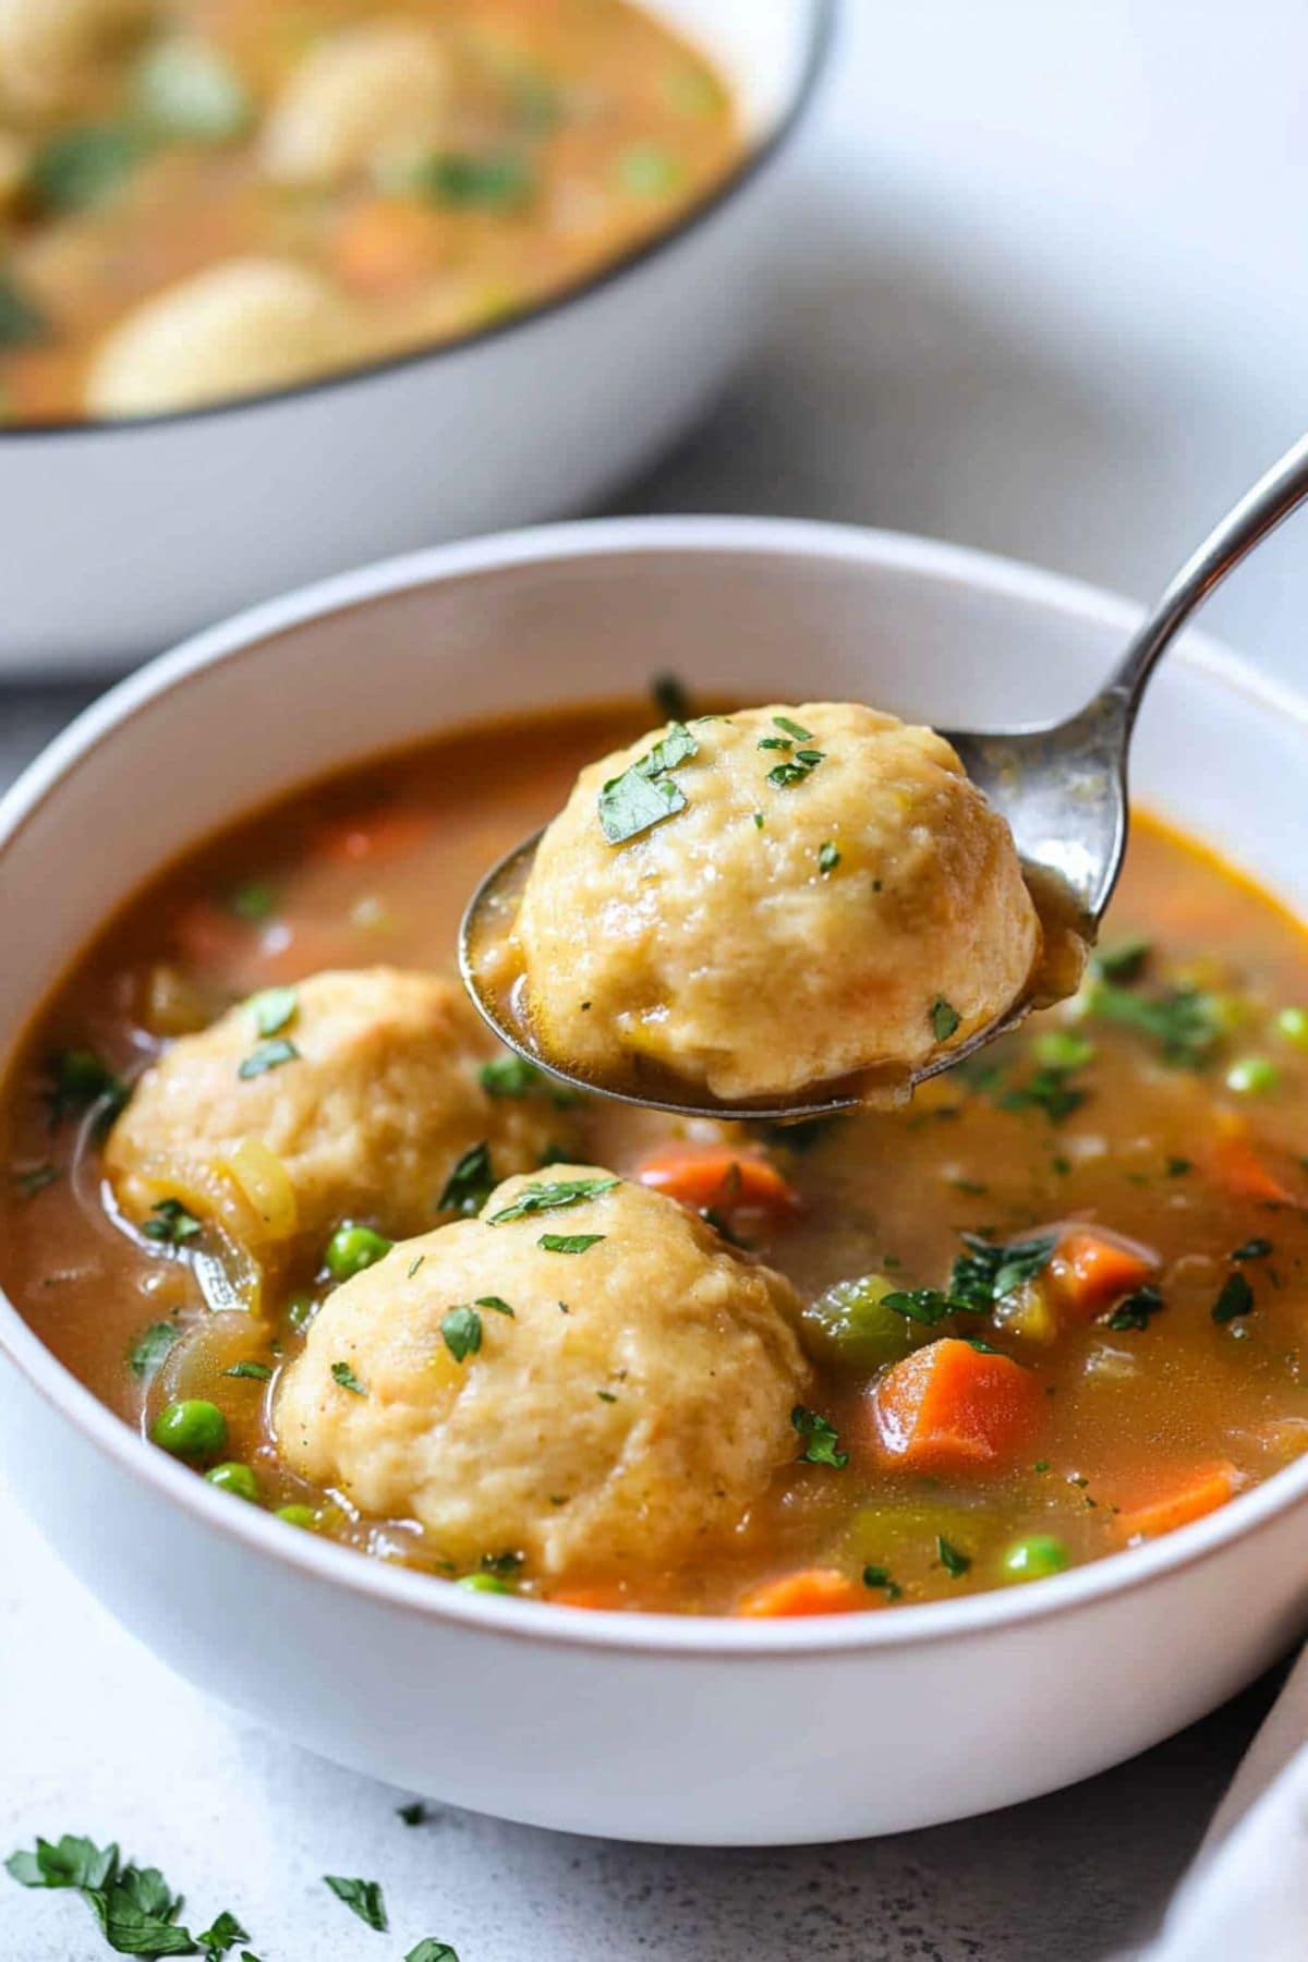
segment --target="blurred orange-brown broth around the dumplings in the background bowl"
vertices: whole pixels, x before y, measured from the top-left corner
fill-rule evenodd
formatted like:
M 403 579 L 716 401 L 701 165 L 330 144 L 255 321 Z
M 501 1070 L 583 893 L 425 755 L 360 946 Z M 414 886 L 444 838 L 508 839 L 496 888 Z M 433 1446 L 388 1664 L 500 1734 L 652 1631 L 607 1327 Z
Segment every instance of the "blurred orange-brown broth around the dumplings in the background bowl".
M 286 188 L 261 171 L 261 122 L 300 57 L 324 33 L 373 20 L 439 29 L 453 73 L 445 153 L 514 159 L 528 173 L 522 198 L 367 181 Z M 149 139 L 100 194 L 43 204 L 33 186 L 51 145 L 104 128 L 143 137 L 141 63 L 171 33 L 229 63 L 249 126 L 218 143 Z M 739 153 L 722 77 L 628 0 L 173 0 L 155 39 L 100 63 L 80 100 L 0 108 L 0 273 L 45 322 L 6 345 L 0 306 L 0 420 L 80 418 L 94 351 L 127 312 L 245 255 L 326 273 L 357 312 L 361 361 L 451 339 L 665 230 Z

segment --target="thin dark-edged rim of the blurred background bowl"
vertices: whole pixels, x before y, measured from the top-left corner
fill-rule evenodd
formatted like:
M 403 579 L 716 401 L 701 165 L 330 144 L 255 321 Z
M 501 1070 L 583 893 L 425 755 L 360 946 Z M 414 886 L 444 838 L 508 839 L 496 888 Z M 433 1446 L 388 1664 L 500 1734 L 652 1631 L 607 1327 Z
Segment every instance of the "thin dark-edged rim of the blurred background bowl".
M 549 320 L 555 314 L 565 312 L 569 306 L 580 304 L 592 294 L 604 292 L 608 286 L 616 286 L 629 273 L 639 271 L 661 253 L 680 243 L 680 239 L 684 239 L 690 232 L 698 232 L 700 226 L 714 218 L 726 204 L 735 202 L 735 196 L 747 190 L 755 179 L 761 177 L 784 149 L 788 149 L 792 137 L 800 129 L 800 124 L 808 118 L 822 77 L 826 75 L 841 0 L 802 0 L 802 4 L 808 6 L 810 16 L 804 61 L 800 63 L 800 71 L 792 82 L 788 102 L 782 106 L 780 116 L 763 139 L 749 141 L 739 161 L 702 196 L 686 204 L 671 226 L 661 232 L 653 232 L 641 243 L 618 253 L 616 259 L 604 259 L 592 273 L 561 286 L 557 292 L 547 294 L 533 306 L 526 306 L 522 312 L 508 314 L 502 320 L 488 320 L 482 326 L 467 328 L 451 339 L 412 347 L 408 353 L 382 355 L 377 361 L 361 361 L 347 369 L 310 377 L 308 381 L 288 383 L 280 388 L 255 388 L 243 394 L 224 396 L 220 402 L 202 402 L 196 408 L 171 408 L 157 416 L 100 416 L 94 420 L 82 418 L 80 422 L 73 416 L 65 416 L 59 422 L 25 422 L 14 426 L 0 424 L 0 455 L 6 447 L 39 443 L 49 438 L 82 438 L 84 441 L 98 441 L 116 436 L 141 436 L 145 432 L 167 430 L 178 424 L 212 422 L 220 416 L 241 414 L 247 410 L 257 412 L 263 408 L 277 408 L 280 402 L 308 400 L 310 396 L 327 394 L 335 388 L 382 381 L 384 377 L 398 375 L 406 369 L 416 369 L 426 363 L 435 365 L 447 357 L 473 353 L 490 341 L 508 339 L 512 334 L 524 332 L 541 320 Z

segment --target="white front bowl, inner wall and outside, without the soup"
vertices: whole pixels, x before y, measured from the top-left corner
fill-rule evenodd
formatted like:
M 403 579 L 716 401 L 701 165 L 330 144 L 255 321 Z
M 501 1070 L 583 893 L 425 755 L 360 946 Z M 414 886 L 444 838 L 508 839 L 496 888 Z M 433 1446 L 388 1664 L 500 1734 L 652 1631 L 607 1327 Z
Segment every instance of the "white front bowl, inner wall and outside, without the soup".
M 996 726 L 1086 697 L 1133 620 L 949 545 L 702 518 L 451 545 L 257 608 L 126 681 L 0 804 L 0 1052 L 176 852 L 431 724 L 673 669 Z M 1308 704 L 1190 638 L 1135 777 L 1302 910 L 1306 757 Z M 830 1840 L 1031 1797 L 1200 1717 L 1306 1601 L 1308 1462 L 1143 1550 L 957 1603 L 769 1625 L 469 1595 L 233 1505 L 4 1301 L 0 1460 L 100 1599 L 216 1695 L 406 1789 L 606 1836 Z

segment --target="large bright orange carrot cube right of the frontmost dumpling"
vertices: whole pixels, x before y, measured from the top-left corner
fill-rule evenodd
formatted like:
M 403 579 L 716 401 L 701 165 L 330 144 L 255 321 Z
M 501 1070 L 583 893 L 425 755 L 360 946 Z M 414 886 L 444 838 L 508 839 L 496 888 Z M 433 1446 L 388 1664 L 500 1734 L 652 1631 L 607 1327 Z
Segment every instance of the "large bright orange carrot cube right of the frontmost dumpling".
M 877 1448 L 906 1472 L 984 1472 L 1039 1426 L 1039 1383 L 1010 1356 L 947 1336 L 904 1356 L 873 1389 Z

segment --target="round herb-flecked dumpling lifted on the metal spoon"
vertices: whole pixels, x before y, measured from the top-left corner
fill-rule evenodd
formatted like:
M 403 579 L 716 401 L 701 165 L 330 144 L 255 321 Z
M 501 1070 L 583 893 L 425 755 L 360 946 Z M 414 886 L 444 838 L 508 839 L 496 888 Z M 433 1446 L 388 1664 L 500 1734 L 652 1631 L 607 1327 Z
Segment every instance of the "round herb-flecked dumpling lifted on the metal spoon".
M 747 1103 L 906 1081 L 1000 1016 L 1039 950 L 1008 824 L 945 738 L 804 702 L 582 769 L 504 957 L 547 1059 Z

